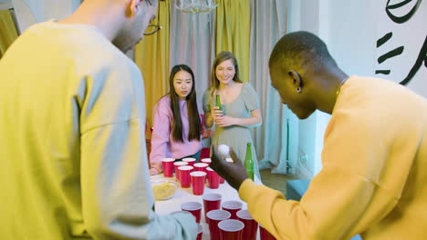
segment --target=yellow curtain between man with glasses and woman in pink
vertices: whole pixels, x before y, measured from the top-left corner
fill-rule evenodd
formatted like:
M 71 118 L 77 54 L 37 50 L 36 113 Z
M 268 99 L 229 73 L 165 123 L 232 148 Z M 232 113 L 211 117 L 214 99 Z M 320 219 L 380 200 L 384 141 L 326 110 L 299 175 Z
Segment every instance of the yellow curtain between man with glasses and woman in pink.
M 169 19 L 171 0 L 159 1 L 153 25 L 161 25 L 154 35 L 146 35 L 135 46 L 134 59 L 144 77 L 147 124 L 152 126 L 152 107 L 169 89 Z

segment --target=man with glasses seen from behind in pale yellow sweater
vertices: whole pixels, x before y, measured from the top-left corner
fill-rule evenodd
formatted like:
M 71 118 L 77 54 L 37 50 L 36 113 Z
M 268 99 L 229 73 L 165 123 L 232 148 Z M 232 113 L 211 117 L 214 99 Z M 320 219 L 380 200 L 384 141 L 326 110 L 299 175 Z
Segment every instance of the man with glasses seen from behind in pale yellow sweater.
M 123 53 L 157 6 L 85 0 L 64 20 L 31 26 L 7 50 L 0 239 L 195 239 L 193 215 L 152 210 L 143 81 Z

